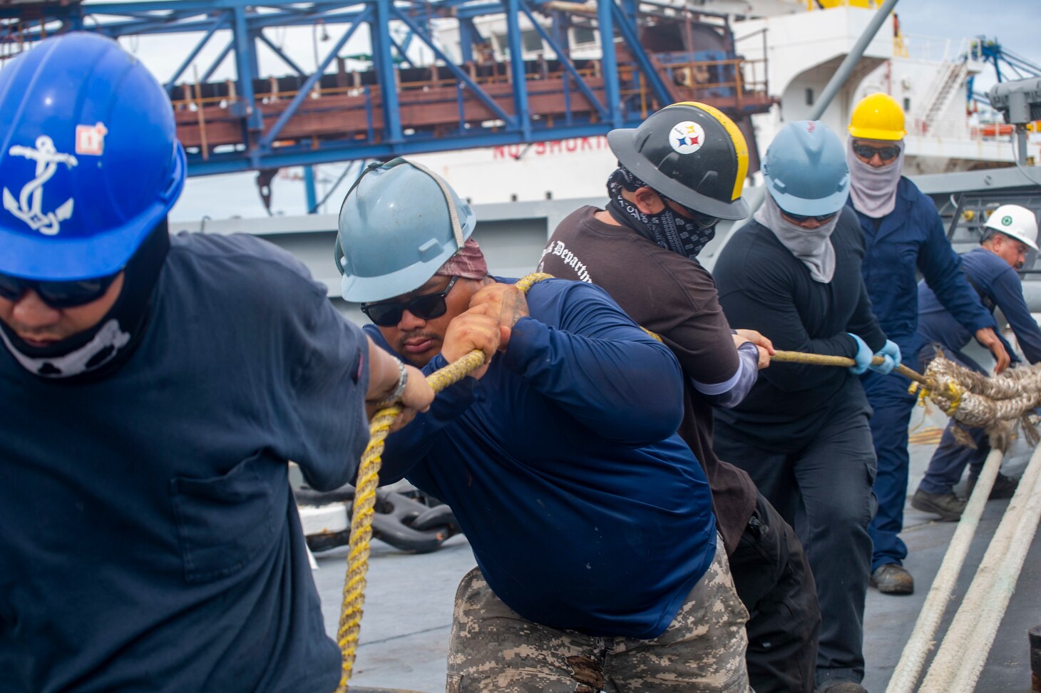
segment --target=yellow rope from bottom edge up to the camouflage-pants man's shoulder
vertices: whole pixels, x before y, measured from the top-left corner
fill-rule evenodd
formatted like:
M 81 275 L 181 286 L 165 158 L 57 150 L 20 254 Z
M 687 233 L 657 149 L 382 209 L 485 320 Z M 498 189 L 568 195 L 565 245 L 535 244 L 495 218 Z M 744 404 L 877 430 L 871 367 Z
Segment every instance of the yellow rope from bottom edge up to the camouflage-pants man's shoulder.
M 536 273 L 528 275 L 516 283 L 516 287 L 528 292 L 534 284 L 553 279 L 550 275 Z M 427 376 L 427 382 L 440 392 L 449 385 L 457 383 L 467 374 L 484 364 L 484 354 L 474 350 L 458 361 Z M 347 683 L 354 669 L 354 659 L 358 649 L 358 633 L 361 631 L 361 612 L 365 602 L 365 573 L 369 572 L 369 542 L 373 538 L 373 515 L 376 512 L 376 487 L 379 486 L 383 441 L 390 431 L 390 425 L 401 413 L 401 407 L 387 407 L 376 412 L 369 426 L 369 446 L 361 455 L 358 479 L 354 489 L 354 507 L 351 511 L 351 541 L 347 555 L 347 578 L 344 580 L 344 604 L 339 612 L 339 630 L 336 641 L 342 653 L 344 670 L 340 673 L 336 693 L 347 691 Z

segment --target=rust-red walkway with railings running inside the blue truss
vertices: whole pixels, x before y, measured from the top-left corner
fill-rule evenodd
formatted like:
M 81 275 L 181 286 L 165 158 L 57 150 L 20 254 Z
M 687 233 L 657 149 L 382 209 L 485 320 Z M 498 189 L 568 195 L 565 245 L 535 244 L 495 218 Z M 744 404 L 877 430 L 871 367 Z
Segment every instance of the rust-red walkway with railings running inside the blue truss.
M 558 120 L 581 117 L 590 123 L 600 120 L 596 104 L 583 88 L 603 100 L 604 76 L 599 60 L 584 60 L 568 72 L 555 60 L 530 61 L 525 81 L 531 114 L 552 127 Z M 716 60 L 678 59 L 667 63 L 655 58 L 655 67 L 665 78 L 676 101 L 705 101 L 737 114 L 748 109 L 768 108 L 766 94 L 766 58 L 727 57 Z M 501 69 L 500 69 L 501 68 Z M 464 67 L 473 83 L 504 110 L 512 103 L 512 71 L 504 66 Z M 634 63 L 623 62 L 617 68 L 619 96 L 627 110 L 640 119 L 666 105 L 658 99 L 645 76 Z M 402 77 L 405 76 L 405 79 Z M 411 77 L 411 78 L 407 78 Z M 420 78 L 416 78 L 420 77 Z M 583 84 L 576 83 L 576 77 Z M 397 89 L 406 128 L 423 129 L 436 135 L 459 132 L 464 128 L 481 127 L 494 132 L 503 126 L 501 120 L 479 102 L 473 92 L 457 77 L 446 75 L 436 66 L 396 73 Z M 293 88 L 305 78 L 270 78 L 256 80 L 254 103 L 264 118 L 277 117 L 300 94 Z M 294 119 L 281 133 L 279 142 L 295 144 L 303 137 L 357 137 L 371 142 L 380 139 L 382 120 L 381 85 L 372 82 L 366 72 L 326 75 L 308 92 Z M 288 83 L 287 83 L 288 82 Z M 332 83 L 329 83 L 332 82 Z M 288 88 L 286 88 L 288 86 Z M 173 89 L 173 107 L 179 136 L 185 147 L 196 148 L 206 159 L 215 146 L 237 144 L 242 139 L 243 99 L 233 80 L 224 82 L 185 82 Z M 408 108 L 413 109 L 409 111 Z M 342 118 L 332 118 L 335 110 Z M 302 118 L 301 118 L 302 117 Z M 409 122 L 409 119 L 414 119 Z M 307 119 L 311 119 L 309 122 Z

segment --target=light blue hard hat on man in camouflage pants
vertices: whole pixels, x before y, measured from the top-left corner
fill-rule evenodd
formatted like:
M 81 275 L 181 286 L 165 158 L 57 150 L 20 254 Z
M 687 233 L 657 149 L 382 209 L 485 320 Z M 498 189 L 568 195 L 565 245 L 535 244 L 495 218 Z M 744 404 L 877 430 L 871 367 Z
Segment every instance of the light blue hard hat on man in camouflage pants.
M 370 164 L 344 198 L 334 254 L 340 292 L 357 303 L 423 286 L 477 225 L 465 201 L 426 166 Z

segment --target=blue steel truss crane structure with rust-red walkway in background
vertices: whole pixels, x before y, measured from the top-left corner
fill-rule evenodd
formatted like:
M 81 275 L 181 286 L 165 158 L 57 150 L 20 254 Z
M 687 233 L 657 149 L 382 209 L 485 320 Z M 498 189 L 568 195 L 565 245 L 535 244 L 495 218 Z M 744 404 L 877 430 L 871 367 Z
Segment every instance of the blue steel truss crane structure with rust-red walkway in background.
M 489 21 L 502 25 L 494 40 Z M 310 73 L 265 33 L 316 25 L 334 40 Z M 576 29 L 598 38 L 599 55 L 573 56 Z M 685 100 L 731 116 L 754 147 L 748 117 L 772 104 L 765 66 L 750 76 L 757 66 L 737 54 L 726 17 L 660 1 L 5 3 L 0 57 L 69 30 L 198 35 L 166 84 L 195 176 L 587 137 Z M 348 42 L 365 33 L 365 69 L 347 70 Z M 223 50 L 183 81 L 210 42 Z M 417 65 L 415 45 L 433 60 Z M 261 47 L 286 74 L 260 74 Z M 227 59 L 236 77 L 211 81 Z

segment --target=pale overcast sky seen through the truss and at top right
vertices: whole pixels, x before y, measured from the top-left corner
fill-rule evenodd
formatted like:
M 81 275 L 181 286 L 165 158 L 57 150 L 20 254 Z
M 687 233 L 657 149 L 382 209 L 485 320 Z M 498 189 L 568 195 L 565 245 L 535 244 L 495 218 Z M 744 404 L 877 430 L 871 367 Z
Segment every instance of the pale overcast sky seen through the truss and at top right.
M 900 0 L 896 5 L 896 12 L 903 31 L 909 34 L 909 41 L 913 42 L 916 35 L 960 41 L 966 36 L 982 34 L 988 38 L 997 38 L 1007 49 L 1041 65 L 1041 0 Z M 325 41 L 321 28 L 269 29 L 266 34 L 274 43 L 282 46 L 304 70 L 311 70 L 316 63 L 315 48 L 319 52 L 318 59 L 321 60 L 344 29 L 342 25 L 330 26 L 329 38 Z M 367 51 L 364 33 L 364 30 L 359 30 L 340 51 L 341 54 Z M 128 37 L 122 43 L 139 55 L 160 81 L 166 81 L 197 41 L 197 36 L 175 34 L 161 40 Z M 198 69 L 204 71 L 226 43 L 227 38 L 217 34 L 197 58 Z M 418 43 L 413 42 L 413 45 Z M 266 48 L 261 49 L 259 59 L 261 74 L 289 72 Z M 233 76 L 233 62 L 229 58 L 214 78 Z M 180 81 L 185 79 L 193 79 L 192 69 L 185 72 Z M 977 78 L 975 88 L 986 91 L 992 82 L 991 71 L 988 71 Z M 318 168 L 320 197 L 324 186 L 329 185 L 342 168 L 342 164 Z M 212 219 L 263 215 L 265 212 L 256 192 L 255 176 L 255 173 L 250 173 L 189 179 L 180 202 L 174 208 L 173 217 L 198 220 L 203 215 Z M 306 211 L 303 184 L 299 177 L 299 170 L 283 170 L 282 176 L 276 178 L 272 205 L 276 213 L 299 214 Z M 331 205 L 331 208 L 334 210 L 335 205 Z

